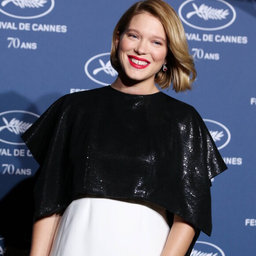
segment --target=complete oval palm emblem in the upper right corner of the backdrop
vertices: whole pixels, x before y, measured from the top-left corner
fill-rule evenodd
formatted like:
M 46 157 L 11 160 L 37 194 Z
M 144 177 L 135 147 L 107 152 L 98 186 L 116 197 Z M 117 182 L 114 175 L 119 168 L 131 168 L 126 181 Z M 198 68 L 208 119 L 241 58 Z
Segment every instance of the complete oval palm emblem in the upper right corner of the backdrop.
M 233 6 L 224 0 L 186 0 L 179 8 L 181 20 L 198 30 L 220 30 L 236 19 Z

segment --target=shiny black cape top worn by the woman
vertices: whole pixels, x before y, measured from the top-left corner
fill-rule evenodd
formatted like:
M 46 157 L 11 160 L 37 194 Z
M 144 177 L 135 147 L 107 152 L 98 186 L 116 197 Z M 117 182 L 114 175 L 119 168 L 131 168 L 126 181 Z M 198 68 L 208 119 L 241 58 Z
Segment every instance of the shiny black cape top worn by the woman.
M 59 98 L 22 138 L 40 165 L 37 217 L 91 193 L 158 204 L 211 235 L 210 179 L 227 167 L 192 106 L 100 87 Z

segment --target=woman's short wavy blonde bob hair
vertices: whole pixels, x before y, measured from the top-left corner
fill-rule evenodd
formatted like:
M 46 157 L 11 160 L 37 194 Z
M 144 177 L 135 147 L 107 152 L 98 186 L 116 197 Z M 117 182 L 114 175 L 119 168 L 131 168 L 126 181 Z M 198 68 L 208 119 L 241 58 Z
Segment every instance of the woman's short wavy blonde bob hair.
M 162 89 L 169 88 L 173 83 L 176 92 L 191 90 L 196 78 L 193 57 L 189 55 L 188 42 L 181 20 L 177 13 L 162 0 L 145 0 L 133 4 L 118 21 L 112 38 L 110 60 L 117 72 L 121 69 L 118 60 L 117 36 L 121 36 L 135 15 L 149 13 L 160 20 L 167 38 L 168 53 L 166 56 L 166 72 L 162 68 L 155 75 L 154 82 Z

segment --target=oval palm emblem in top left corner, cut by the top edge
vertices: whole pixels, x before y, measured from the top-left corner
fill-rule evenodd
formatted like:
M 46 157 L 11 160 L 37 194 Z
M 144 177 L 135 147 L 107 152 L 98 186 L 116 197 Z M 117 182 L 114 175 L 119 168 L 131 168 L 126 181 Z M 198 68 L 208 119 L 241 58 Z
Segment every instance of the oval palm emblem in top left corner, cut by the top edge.
M 0 0 L 0 12 L 17 19 L 36 19 L 54 8 L 54 0 Z

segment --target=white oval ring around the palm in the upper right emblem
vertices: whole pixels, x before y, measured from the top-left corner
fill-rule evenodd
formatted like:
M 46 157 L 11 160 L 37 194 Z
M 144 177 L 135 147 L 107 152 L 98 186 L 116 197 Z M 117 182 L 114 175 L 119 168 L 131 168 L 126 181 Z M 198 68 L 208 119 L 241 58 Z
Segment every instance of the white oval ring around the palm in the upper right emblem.
M 182 8 L 183 8 L 186 4 L 188 4 L 188 3 L 192 2 L 192 1 L 196 1 L 196 0 L 186 0 L 186 1 L 184 1 L 184 2 L 181 4 L 181 6 L 179 7 L 179 10 L 178 10 L 178 14 L 179 14 L 181 20 L 182 20 L 185 24 L 187 24 L 188 26 L 191 26 L 192 28 L 195 28 L 195 29 L 198 29 L 198 30 L 206 30 L 206 31 L 221 30 L 221 29 L 224 29 L 224 28 L 230 26 L 230 25 L 235 21 L 235 19 L 236 19 L 236 17 L 237 17 L 237 13 L 236 13 L 235 9 L 233 8 L 233 6 L 232 6 L 231 4 L 227 3 L 227 2 L 224 1 L 224 0 L 215 0 L 215 1 L 221 2 L 222 4 L 226 4 L 226 5 L 231 9 L 231 11 L 232 11 L 232 13 L 233 13 L 233 18 L 230 20 L 230 22 L 227 23 L 226 25 L 219 26 L 219 27 L 214 27 L 214 28 L 206 28 L 206 27 L 200 27 L 200 26 L 193 25 L 193 24 L 189 23 L 186 19 L 184 19 L 184 17 L 183 17 L 182 14 L 181 14 Z

